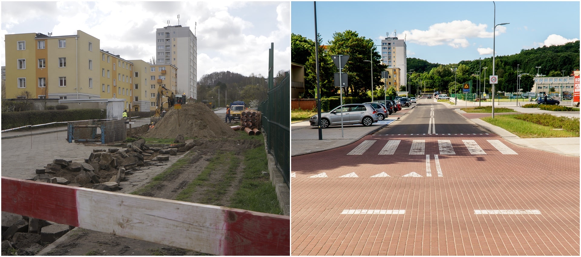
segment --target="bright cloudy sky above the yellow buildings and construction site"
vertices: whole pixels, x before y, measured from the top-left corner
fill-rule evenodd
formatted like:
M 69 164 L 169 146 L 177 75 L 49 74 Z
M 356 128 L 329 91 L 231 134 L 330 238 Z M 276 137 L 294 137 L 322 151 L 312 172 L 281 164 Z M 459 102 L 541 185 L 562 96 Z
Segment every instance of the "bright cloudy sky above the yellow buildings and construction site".
M 156 55 L 156 28 L 190 27 L 198 38 L 198 79 L 214 71 L 268 75 L 268 49 L 274 42 L 275 74 L 290 70 L 289 2 L 8 2 L 1 3 L 1 37 L 38 32 L 86 32 L 101 49 L 125 60 Z M 196 25 L 197 23 L 197 25 Z M 5 66 L 5 45 L 0 46 Z

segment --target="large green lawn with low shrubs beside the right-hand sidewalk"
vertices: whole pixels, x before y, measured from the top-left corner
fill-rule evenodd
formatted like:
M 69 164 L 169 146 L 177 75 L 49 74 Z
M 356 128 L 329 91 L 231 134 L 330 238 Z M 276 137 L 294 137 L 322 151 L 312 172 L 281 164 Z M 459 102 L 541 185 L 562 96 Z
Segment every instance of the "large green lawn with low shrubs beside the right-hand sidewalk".
M 566 128 L 558 125 L 559 121 L 557 119 L 561 118 L 570 120 L 561 120 L 561 122 L 568 124 Z M 492 117 L 484 117 L 480 118 L 480 120 L 500 126 L 522 138 L 579 137 L 579 118 L 555 117 L 550 114 L 506 114 L 498 115 L 494 119 Z M 537 122 L 545 125 L 537 124 Z M 565 130 L 554 130 L 561 128 Z

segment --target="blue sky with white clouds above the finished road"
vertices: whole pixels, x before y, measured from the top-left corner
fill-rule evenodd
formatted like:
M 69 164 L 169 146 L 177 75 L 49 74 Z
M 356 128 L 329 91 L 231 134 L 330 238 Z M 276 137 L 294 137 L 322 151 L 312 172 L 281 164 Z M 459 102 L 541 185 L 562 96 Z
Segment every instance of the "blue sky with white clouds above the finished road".
M 496 56 L 521 49 L 579 40 L 579 1 L 496 1 Z M 313 2 L 292 2 L 291 28 L 314 39 Z M 333 33 L 357 31 L 374 39 L 406 39 L 407 57 L 450 64 L 492 57 L 493 2 L 331 2 L 317 1 L 317 31 L 322 42 Z

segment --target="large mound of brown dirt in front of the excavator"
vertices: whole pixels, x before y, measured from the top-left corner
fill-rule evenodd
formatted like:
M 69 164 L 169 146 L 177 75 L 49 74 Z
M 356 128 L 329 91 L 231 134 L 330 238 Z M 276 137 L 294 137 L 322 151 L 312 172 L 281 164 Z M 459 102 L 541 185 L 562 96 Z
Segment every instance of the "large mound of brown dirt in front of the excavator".
M 182 104 L 181 109 L 178 110 L 170 108 L 162 120 L 157 122 L 144 137 L 175 138 L 177 135 L 215 139 L 236 137 L 238 133 L 220 120 L 205 104 L 187 103 Z

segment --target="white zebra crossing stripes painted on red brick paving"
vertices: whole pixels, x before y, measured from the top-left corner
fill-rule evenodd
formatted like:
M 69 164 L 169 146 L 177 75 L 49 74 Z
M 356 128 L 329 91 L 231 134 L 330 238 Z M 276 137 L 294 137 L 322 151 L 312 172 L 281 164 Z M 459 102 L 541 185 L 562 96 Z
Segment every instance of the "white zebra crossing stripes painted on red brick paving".
M 358 146 L 356 146 L 353 150 L 351 150 L 347 155 L 362 155 L 366 153 L 371 146 L 373 146 L 378 140 L 364 140 Z M 383 140 L 382 140 L 383 141 Z M 500 140 L 486 140 L 490 144 L 490 146 L 494 147 L 497 151 L 501 154 L 518 154 L 516 151 L 512 150 L 510 147 L 505 145 L 504 143 L 500 142 Z M 459 143 L 459 142 L 458 142 Z M 458 143 L 456 147 L 458 147 Z M 485 150 L 482 149 L 479 143 L 476 140 L 461 140 L 461 143 L 464 144 L 465 149 L 471 155 L 483 155 L 487 154 Z M 396 150 L 400 147 L 401 140 L 388 140 L 388 142 L 383 146 L 381 151 L 379 151 L 378 155 L 393 155 L 396 153 Z M 455 155 L 456 150 L 454 149 L 454 145 L 451 140 L 437 140 L 438 144 L 438 151 L 440 155 Z M 426 140 L 425 139 L 414 139 L 411 141 L 411 146 L 408 151 L 409 155 L 424 155 L 426 154 Z M 490 147 L 485 147 L 486 149 L 490 149 Z M 403 149 L 403 147 L 400 147 Z

